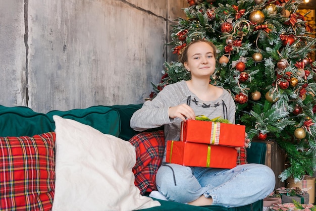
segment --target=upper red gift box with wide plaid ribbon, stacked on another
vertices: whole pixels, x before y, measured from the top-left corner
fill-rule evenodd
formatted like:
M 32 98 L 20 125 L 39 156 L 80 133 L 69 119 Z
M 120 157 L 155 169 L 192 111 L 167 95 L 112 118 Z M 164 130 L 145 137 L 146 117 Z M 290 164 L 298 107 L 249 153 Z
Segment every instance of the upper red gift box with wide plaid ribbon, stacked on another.
M 245 131 L 244 125 L 187 120 L 181 122 L 180 141 L 243 147 Z

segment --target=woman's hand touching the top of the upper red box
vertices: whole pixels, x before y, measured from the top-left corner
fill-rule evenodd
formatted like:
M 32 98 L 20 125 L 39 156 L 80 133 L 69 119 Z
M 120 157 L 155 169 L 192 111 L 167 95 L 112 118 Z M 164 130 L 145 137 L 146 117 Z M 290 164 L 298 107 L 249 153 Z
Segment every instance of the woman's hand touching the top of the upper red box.
M 178 117 L 185 122 L 187 119 L 195 120 L 195 113 L 189 105 L 179 104 L 169 108 L 169 117 L 172 119 Z

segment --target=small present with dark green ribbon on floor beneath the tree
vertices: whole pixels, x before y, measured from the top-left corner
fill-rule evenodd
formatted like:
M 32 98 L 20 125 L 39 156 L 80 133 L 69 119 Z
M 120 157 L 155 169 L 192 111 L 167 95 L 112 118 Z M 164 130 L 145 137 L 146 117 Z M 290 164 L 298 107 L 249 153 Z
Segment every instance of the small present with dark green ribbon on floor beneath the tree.
M 309 194 L 300 188 L 278 188 L 277 191 L 281 195 L 282 203 L 292 203 L 293 200 L 300 204 L 309 203 Z

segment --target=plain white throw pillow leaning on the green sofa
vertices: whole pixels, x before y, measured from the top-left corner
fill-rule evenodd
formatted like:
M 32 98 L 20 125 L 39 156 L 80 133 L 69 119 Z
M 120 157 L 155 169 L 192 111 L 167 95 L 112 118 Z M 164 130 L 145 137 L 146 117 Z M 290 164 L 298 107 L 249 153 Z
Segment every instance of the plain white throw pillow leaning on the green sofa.
M 160 206 L 140 195 L 128 141 L 70 119 L 54 116 L 56 182 L 52 210 L 135 210 Z

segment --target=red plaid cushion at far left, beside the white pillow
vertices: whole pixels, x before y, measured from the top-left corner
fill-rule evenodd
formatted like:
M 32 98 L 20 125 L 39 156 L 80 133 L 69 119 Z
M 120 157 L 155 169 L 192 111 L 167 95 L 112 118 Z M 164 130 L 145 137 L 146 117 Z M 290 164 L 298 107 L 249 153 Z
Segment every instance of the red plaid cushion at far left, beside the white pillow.
M 0 137 L 0 210 L 50 210 L 54 198 L 54 132 Z

